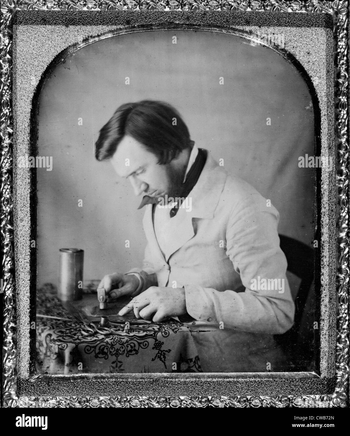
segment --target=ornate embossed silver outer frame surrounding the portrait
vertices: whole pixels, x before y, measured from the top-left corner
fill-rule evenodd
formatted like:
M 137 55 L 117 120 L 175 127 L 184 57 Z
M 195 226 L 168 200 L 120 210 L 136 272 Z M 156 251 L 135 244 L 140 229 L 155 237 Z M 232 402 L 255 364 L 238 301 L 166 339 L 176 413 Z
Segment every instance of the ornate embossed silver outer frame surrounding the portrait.
M 32 3 L 14 4 L 6 0 L 2 7 L 3 24 L 1 29 L 1 241 L 3 246 L 3 407 L 23 407 L 23 404 L 35 405 L 35 402 L 51 401 L 54 407 L 317 407 L 318 404 L 328 404 L 327 407 L 346 407 L 349 394 L 349 156 L 348 156 L 348 1 L 243 1 L 243 0 L 202 0 L 202 1 L 163 1 L 163 0 L 34 0 Z M 17 337 L 16 337 L 16 288 L 14 265 L 14 227 L 13 227 L 13 197 L 12 197 L 12 168 L 13 168 L 13 113 L 12 113 L 12 24 L 17 10 L 49 10 L 49 11 L 111 11 L 111 10 L 156 10 L 161 12 L 185 11 L 189 13 L 201 11 L 220 12 L 293 12 L 295 14 L 308 12 L 310 14 L 330 14 L 334 25 L 334 79 L 335 79 L 335 129 L 337 146 L 337 174 L 336 185 L 338 195 L 337 211 L 337 313 L 336 313 L 336 380 L 326 389 L 323 395 L 309 395 L 309 386 L 302 385 L 306 392 L 298 385 L 297 379 L 291 374 L 281 374 L 273 381 L 283 392 L 283 381 L 288 379 L 288 391 L 296 394 L 285 395 L 244 395 L 231 396 L 230 383 L 223 389 L 224 395 L 207 395 L 206 385 L 221 379 L 225 382 L 227 375 L 216 375 L 216 378 L 188 378 L 189 389 L 183 395 L 159 395 L 160 381 L 152 378 L 153 388 L 148 389 L 152 396 L 129 395 L 121 396 L 120 392 L 110 390 L 108 395 L 89 396 L 88 376 L 67 376 L 65 379 L 51 379 L 53 385 L 61 384 L 60 396 L 44 396 L 47 385 L 40 375 L 31 375 L 27 383 L 17 380 Z M 52 12 L 54 13 L 54 12 Z M 232 376 L 230 374 L 230 376 Z M 261 377 L 261 375 L 259 375 Z M 268 374 L 263 378 L 268 381 Z M 135 375 L 133 379 L 127 375 L 120 377 L 126 392 L 145 392 L 142 386 L 144 375 Z M 302 378 L 299 375 L 299 380 Z M 102 383 L 113 379 L 110 375 L 100 378 Z M 198 381 L 202 381 L 198 389 Z M 244 392 L 246 383 L 254 384 L 257 375 L 254 373 L 237 375 L 241 380 L 239 391 Z M 294 382 L 293 382 L 294 380 Z M 67 383 L 74 381 L 79 396 L 64 394 Z M 147 381 L 147 380 L 146 380 Z M 315 380 L 316 381 L 316 380 Z M 164 383 L 164 378 L 163 378 Z M 192 385 L 191 385 L 192 383 Z M 294 383 L 294 384 L 293 384 Z M 327 381 L 327 383 L 330 383 Z M 191 386 L 196 386 L 196 392 L 202 396 L 191 396 Z M 315 388 L 316 386 L 316 388 Z M 324 385 L 314 385 L 316 392 L 324 390 Z M 316 391 L 315 391 L 316 389 Z M 114 392 L 113 392 L 114 391 Z M 23 395 L 21 392 L 26 392 Z M 32 393 L 31 393 L 32 392 Z M 154 394 L 152 394 L 154 392 Z M 166 392 L 169 392 L 166 389 Z M 194 390 L 192 391 L 194 392 Z M 247 390 L 248 392 L 248 390 Z

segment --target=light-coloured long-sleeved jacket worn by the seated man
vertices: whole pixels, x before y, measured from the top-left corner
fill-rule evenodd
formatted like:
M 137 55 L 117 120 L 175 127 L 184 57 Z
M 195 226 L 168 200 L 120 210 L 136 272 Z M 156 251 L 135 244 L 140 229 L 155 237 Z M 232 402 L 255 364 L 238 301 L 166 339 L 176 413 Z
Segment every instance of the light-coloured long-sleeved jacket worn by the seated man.
M 271 371 L 288 371 L 272 337 L 292 327 L 295 309 L 278 211 L 248 183 L 228 176 L 209 153 L 189 197 L 192 211 L 180 208 L 172 218 L 164 256 L 152 205 L 146 206 L 144 265 L 132 271 L 147 287 L 185 288 L 187 312 L 195 319 L 188 325 L 204 371 L 264 372 L 268 363 Z M 151 273 L 158 283 L 148 280 Z

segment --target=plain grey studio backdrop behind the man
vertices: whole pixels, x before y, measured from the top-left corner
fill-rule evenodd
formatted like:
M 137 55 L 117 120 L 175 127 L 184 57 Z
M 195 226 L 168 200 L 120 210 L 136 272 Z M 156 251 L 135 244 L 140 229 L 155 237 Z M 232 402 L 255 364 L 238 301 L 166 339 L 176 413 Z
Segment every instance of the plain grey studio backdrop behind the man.
M 38 154 L 52 156 L 53 170 L 37 170 L 38 286 L 58 285 L 63 247 L 85 250 L 85 279 L 141 266 L 141 199 L 108 161 L 94 157 L 99 130 L 117 106 L 141 99 L 175 106 L 197 146 L 271 199 L 279 232 L 312 246 L 313 170 L 300 169 L 298 157 L 314 154 L 313 112 L 295 68 L 230 35 L 125 34 L 71 55 L 41 92 Z

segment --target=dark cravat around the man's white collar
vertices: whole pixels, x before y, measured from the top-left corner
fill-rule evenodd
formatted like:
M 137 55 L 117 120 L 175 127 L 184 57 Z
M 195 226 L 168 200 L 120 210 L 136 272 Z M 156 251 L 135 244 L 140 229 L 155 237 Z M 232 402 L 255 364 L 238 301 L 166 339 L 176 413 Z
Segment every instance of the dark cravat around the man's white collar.
M 182 200 L 184 200 L 189 195 L 189 193 L 192 191 L 195 184 L 197 183 L 199 176 L 202 172 L 202 169 L 206 163 L 206 156 L 207 156 L 206 150 L 199 148 L 196 160 L 193 162 L 192 167 L 189 169 L 189 172 L 187 173 L 186 176 L 186 180 L 182 184 L 181 192 L 178 195 L 178 197 L 182 198 Z M 178 209 L 182 204 L 182 200 L 179 200 L 178 203 L 175 204 L 175 206 L 170 210 L 170 218 L 174 217 L 177 214 Z M 157 203 L 158 203 L 158 198 L 144 195 L 144 198 L 142 198 L 141 204 L 137 209 L 143 208 L 146 204 L 157 204 Z

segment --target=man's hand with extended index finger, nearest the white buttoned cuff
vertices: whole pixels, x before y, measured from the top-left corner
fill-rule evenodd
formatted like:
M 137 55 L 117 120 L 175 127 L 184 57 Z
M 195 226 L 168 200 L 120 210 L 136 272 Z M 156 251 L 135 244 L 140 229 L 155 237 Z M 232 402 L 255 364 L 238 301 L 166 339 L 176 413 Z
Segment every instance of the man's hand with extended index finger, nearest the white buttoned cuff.
M 134 310 L 135 317 L 158 323 L 168 317 L 177 317 L 187 313 L 184 288 L 160 288 L 151 286 L 135 296 L 130 303 L 119 311 L 123 316 Z

